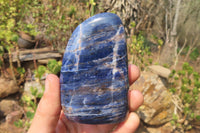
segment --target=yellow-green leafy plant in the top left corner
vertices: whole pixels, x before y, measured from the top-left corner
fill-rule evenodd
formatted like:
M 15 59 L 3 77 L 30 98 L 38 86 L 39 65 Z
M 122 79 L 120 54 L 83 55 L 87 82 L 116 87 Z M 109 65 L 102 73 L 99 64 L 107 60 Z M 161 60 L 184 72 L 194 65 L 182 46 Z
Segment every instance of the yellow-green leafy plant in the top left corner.
M 5 53 L 4 49 L 8 51 L 12 77 L 16 83 L 17 80 L 12 64 L 11 49 L 17 46 L 17 41 L 19 38 L 18 32 L 28 31 L 30 34 L 37 33 L 34 25 L 28 24 L 24 21 L 26 18 L 25 14 L 27 13 L 26 4 L 26 0 L 0 0 L 0 54 L 3 56 Z M 2 57 L 0 64 L 2 66 L 4 65 L 4 59 Z

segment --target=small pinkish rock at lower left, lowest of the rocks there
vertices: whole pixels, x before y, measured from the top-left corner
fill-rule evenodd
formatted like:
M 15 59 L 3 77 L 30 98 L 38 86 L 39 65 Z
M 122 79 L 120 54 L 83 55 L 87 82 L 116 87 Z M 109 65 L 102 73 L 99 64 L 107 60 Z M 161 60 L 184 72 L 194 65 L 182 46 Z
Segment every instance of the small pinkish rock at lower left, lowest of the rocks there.
M 17 110 L 9 113 L 6 116 L 6 123 L 14 124 L 15 121 L 19 120 L 23 115 L 22 110 Z

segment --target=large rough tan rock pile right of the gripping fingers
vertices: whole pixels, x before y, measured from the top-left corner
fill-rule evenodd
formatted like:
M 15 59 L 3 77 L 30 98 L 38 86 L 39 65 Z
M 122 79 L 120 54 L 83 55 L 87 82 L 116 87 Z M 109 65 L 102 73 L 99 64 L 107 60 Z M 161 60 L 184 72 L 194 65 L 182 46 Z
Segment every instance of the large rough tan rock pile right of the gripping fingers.
M 141 72 L 140 78 L 130 87 L 130 89 L 140 90 L 144 95 L 144 104 L 137 111 L 142 122 L 136 133 L 183 132 L 182 129 L 182 131 L 175 130 L 170 123 L 177 105 L 174 95 L 168 89 L 169 75 L 170 70 L 167 68 L 159 65 L 149 66 L 146 71 Z M 181 101 L 178 96 L 176 98 Z M 198 105 L 197 108 L 200 107 Z M 195 113 L 200 114 L 199 112 L 197 110 Z M 197 127 L 200 123 L 194 121 L 192 125 Z M 187 133 L 195 132 L 200 132 L 200 128 L 191 129 Z

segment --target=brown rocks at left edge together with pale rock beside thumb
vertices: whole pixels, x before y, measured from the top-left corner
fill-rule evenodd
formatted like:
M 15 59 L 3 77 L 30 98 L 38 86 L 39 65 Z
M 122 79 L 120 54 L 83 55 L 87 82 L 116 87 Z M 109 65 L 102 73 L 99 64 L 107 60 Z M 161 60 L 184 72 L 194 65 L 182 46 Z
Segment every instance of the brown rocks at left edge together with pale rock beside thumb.
M 44 80 L 40 83 L 44 85 Z M 0 133 L 23 132 L 24 129 L 14 125 L 24 116 L 24 110 L 19 104 L 21 95 L 31 96 L 31 87 L 42 92 L 42 85 L 36 80 L 26 81 L 24 89 L 20 88 L 14 80 L 0 77 Z

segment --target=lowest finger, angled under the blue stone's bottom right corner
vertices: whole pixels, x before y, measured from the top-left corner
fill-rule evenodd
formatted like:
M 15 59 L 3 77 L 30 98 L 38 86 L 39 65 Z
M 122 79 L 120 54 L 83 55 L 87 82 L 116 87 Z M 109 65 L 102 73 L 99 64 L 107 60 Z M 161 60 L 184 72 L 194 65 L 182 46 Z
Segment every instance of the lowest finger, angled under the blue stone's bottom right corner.
M 113 133 L 133 133 L 136 131 L 140 124 L 140 119 L 136 113 L 131 112 L 128 118 L 120 123 L 120 125 L 115 129 Z

